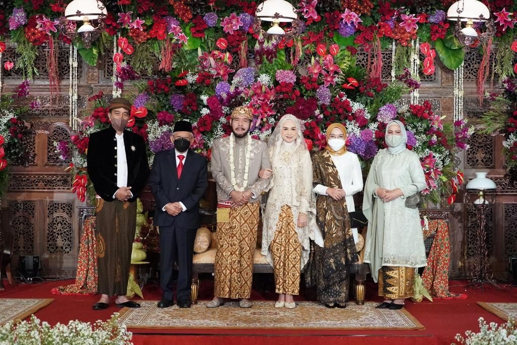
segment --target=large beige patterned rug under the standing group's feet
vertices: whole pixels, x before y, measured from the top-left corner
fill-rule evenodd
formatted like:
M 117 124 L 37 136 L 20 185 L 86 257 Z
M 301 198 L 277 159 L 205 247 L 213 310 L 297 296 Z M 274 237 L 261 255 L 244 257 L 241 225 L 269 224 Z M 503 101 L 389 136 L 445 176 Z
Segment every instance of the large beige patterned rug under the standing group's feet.
M 237 302 L 219 308 L 206 308 L 207 301 L 190 309 L 157 308 L 156 301 L 145 301 L 138 309 L 120 310 L 120 322 L 128 328 L 288 328 L 331 330 L 421 330 L 424 327 L 405 309 L 375 309 L 377 303 L 346 309 L 328 309 L 315 302 L 297 302 L 295 309 L 275 308 L 272 302 L 254 302 L 252 308 L 239 308 Z

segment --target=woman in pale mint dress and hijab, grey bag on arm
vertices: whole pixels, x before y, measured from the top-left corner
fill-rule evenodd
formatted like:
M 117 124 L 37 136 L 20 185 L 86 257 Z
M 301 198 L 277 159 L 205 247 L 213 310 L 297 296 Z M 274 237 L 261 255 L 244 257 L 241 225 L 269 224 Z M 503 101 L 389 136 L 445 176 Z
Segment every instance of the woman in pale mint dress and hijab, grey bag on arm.
M 404 299 L 413 295 L 415 268 L 426 261 L 418 208 L 407 207 L 405 199 L 426 183 L 418 155 L 406 149 L 404 124 L 389 122 L 385 140 L 388 148 L 375 155 L 364 187 L 364 262 L 370 263 L 379 296 L 384 296 L 377 308 L 401 309 Z

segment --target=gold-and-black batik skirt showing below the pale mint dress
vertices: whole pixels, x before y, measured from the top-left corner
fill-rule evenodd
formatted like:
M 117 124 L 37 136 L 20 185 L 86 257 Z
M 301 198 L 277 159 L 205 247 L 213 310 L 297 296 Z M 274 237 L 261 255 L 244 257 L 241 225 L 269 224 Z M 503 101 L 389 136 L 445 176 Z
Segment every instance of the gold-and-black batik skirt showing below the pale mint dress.
M 415 269 L 412 267 L 382 266 L 378 273 L 379 296 L 388 300 L 413 296 Z

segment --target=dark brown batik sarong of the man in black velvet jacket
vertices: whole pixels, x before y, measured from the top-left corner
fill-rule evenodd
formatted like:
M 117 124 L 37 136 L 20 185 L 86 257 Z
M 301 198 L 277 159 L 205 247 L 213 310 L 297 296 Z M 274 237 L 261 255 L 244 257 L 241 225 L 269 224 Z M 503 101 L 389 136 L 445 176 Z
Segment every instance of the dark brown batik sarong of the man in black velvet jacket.
M 97 203 L 97 292 L 126 295 L 136 230 L 136 202 Z

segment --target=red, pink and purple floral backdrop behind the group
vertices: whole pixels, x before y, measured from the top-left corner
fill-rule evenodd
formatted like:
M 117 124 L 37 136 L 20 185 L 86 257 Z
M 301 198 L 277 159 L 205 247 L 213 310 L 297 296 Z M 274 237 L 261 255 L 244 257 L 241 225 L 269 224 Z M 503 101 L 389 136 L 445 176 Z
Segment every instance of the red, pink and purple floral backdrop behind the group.
M 213 140 L 230 133 L 231 110 L 247 104 L 253 109 L 253 137 L 267 140 L 279 117 L 292 113 L 305 126 L 312 150 L 326 145 L 329 123 L 344 123 L 349 150 L 368 169 L 375 153 L 385 147 L 386 123 L 399 119 L 408 130 L 408 148 L 419 155 L 425 170 L 424 194 L 430 201 L 448 197 L 454 202 L 463 182 L 455 154 L 467 149 L 473 129 L 462 117 L 440 117 L 429 102 L 418 101 L 420 71 L 431 75 L 437 63 L 452 70 L 462 66 L 464 49 L 453 36 L 454 22 L 446 17 L 453 1 L 292 3 L 303 22 L 294 39 L 263 35 L 254 18 L 257 2 L 108 0 L 105 32 L 86 49 L 79 38 L 70 41 L 62 33 L 64 1 L 14 0 L 0 10 L 0 35 L 16 43 L 11 49 L 19 58 L 3 61 L 1 67 L 19 69 L 30 81 L 38 73 L 36 46 L 47 45 L 51 92 L 56 92 L 57 44 L 71 44 L 71 52 L 77 50 L 94 66 L 102 55 L 110 56 L 112 94 L 99 92 L 89 98 L 93 112 L 80 119 L 71 115 L 71 125 L 77 127 L 72 146 L 56 143 L 64 158 L 73 158 L 74 192 L 81 200 L 89 184 L 84 169 L 77 168 L 85 167 L 88 135 L 109 126 L 108 101 L 122 94 L 133 101 L 130 129 L 148 143 L 150 160 L 154 153 L 172 148 L 170 132 L 174 122 L 183 119 L 194 125 L 194 149 L 209 159 Z M 470 49 L 486 56 L 492 43 L 498 43 L 492 52 L 497 57 L 493 70 L 502 80 L 515 73 L 510 48 L 515 5 L 510 0 L 485 3 L 497 32 L 489 48 L 475 41 Z M 263 22 L 262 28 L 267 25 Z M 288 32 L 290 25 L 284 29 Z M 0 54 L 6 50 L 2 44 Z M 392 81 L 385 83 L 381 51 L 388 48 Z M 358 51 L 368 54 L 366 69 L 356 64 Z M 480 101 L 488 77 L 485 60 L 478 76 Z M 77 68 L 77 60 L 71 58 L 70 64 Z M 77 99 L 72 78 L 70 85 L 71 99 Z

